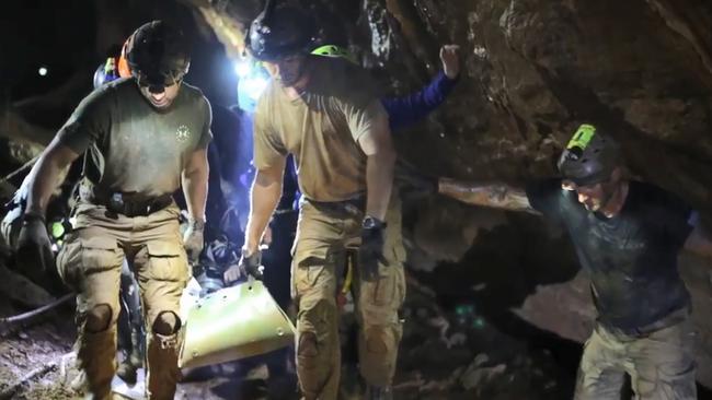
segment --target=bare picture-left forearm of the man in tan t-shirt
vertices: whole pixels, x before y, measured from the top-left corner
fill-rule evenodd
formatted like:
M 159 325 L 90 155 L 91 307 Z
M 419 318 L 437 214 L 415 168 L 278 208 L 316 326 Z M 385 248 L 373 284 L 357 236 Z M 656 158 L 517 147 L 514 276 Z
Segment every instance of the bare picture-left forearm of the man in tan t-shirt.
M 272 213 L 282 197 L 285 160 L 268 168 L 259 169 L 252 181 L 250 196 L 250 219 L 245 228 L 244 249 L 248 255 L 259 249 Z

